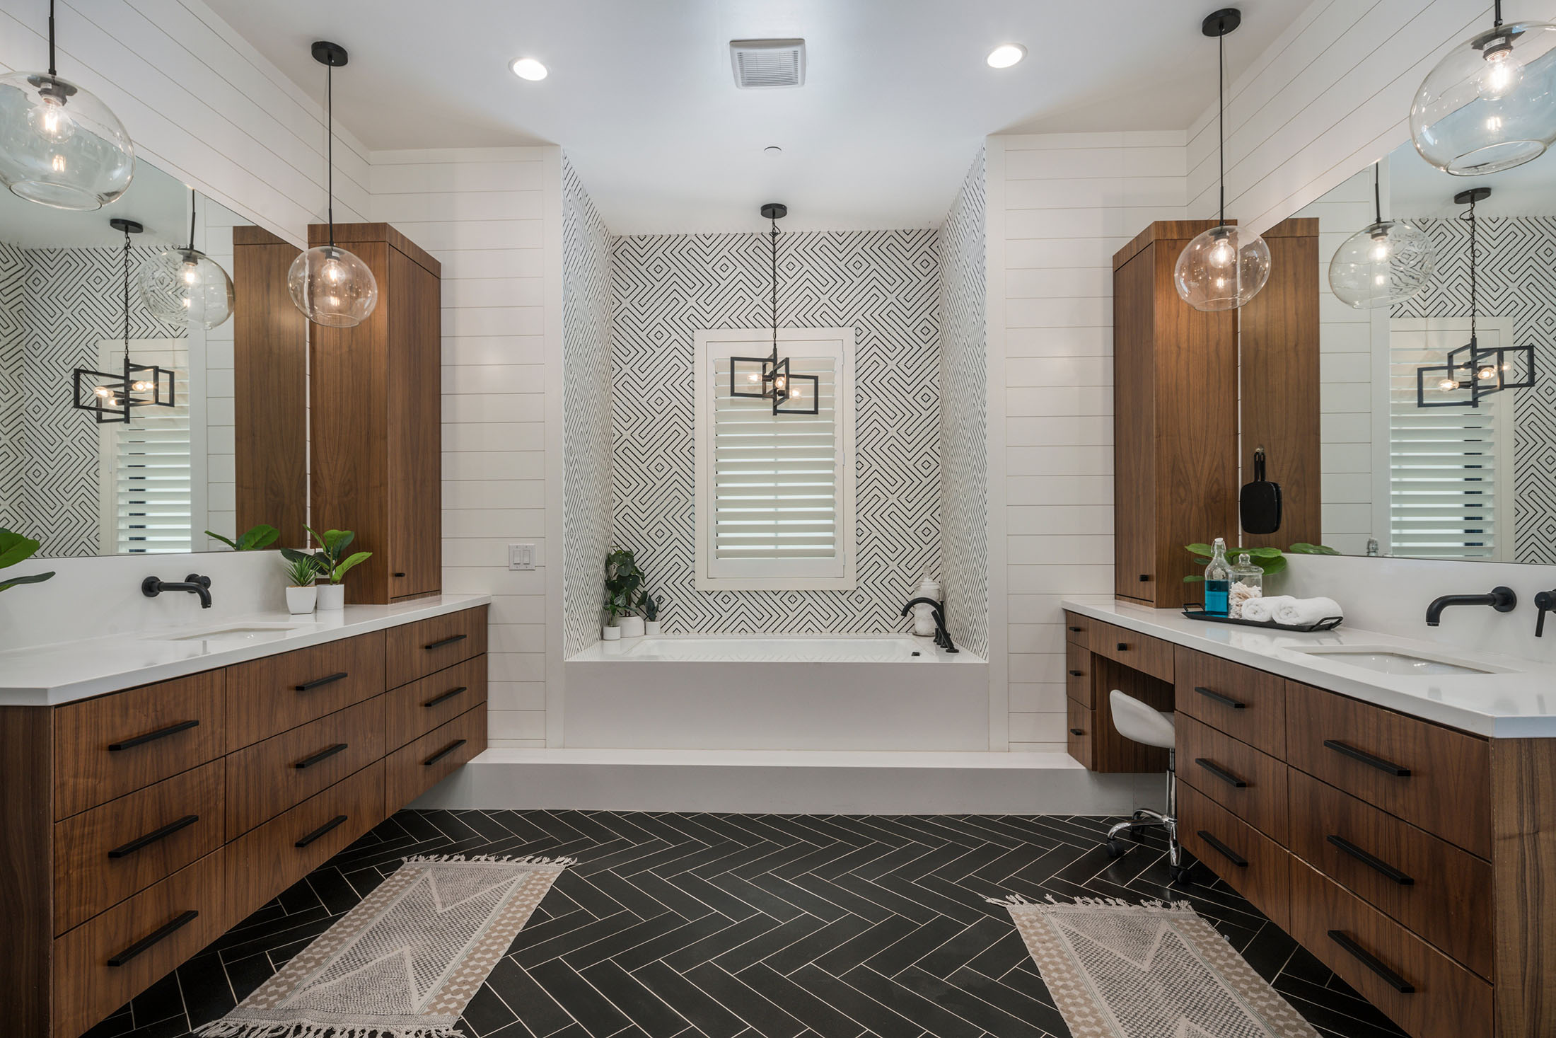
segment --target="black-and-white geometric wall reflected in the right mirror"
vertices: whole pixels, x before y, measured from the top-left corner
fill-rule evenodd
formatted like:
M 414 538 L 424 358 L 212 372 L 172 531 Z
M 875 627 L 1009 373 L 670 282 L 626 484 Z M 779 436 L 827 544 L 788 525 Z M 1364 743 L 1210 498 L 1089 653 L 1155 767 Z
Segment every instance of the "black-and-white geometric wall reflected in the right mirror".
M 1391 317 L 1469 316 L 1469 224 L 1411 221 L 1428 238 L 1438 271 Z M 1519 345 L 1534 345 L 1539 378 L 1514 392 L 1516 562 L 1556 563 L 1556 218 L 1492 216 L 1477 223 L 1480 314 L 1511 317 Z

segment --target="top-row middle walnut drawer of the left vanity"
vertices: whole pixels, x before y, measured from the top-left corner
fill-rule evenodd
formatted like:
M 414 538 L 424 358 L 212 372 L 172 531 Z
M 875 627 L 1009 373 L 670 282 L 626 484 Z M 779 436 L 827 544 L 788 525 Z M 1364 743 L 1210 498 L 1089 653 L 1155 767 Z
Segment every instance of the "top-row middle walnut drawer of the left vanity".
M 230 666 L 227 750 L 241 750 L 381 691 L 381 630 Z

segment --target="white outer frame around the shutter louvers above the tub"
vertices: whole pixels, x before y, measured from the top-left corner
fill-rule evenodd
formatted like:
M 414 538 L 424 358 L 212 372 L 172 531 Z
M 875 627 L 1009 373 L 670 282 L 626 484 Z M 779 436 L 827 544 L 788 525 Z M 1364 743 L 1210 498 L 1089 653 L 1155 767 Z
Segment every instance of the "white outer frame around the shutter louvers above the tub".
M 836 529 L 837 557 L 828 560 L 829 573 L 795 573 L 800 559 L 742 559 L 741 573 L 719 563 L 713 537 L 716 490 L 713 484 L 714 408 L 719 373 L 728 378 L 730 356 L 761 356 L 772 350 L 772 328 L 710 328 L 696 333 L 696 559 L 694 580 L 699 591 L 853 591 L 857 587 L 857 531 L 854 520 L 854 342 L 848 328 L 778 328 L 778 352 L 795 356 L 831 356 L 837 361 L 836 386 Z M 720 361 L 714 366 L 714 361 Z M 781 419 L 780 419 L 781 420 Z M 724 570 L 720 573 L 719 570 Z

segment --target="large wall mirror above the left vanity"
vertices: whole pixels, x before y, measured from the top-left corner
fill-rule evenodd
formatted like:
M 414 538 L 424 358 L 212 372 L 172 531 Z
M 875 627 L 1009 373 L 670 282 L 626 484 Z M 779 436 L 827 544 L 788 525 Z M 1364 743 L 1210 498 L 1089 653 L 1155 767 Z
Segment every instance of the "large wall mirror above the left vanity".
M 237 282 L 230 311 L 224 283 L 202 279 L 190 303 L 170 283 L 185 268 L 159 266 L 191 244 L 191 215 L 194 249 Z M 235 275 L 235 241 L 296 254 L 143 159 L 129 190 L 96 212 L 0 191 L 0 526 L 39 540 L 40 557 L 226 551 L 207 531 L 233 538 L 305 509 L 257 506 L 252 493 L 238 503 L 240 470 L 263 453 L 249 405 L 266 386 L 244 375 L 235 338 L 263 327 L 255 307 L 275 305 L 271 282 L 285 268 L 257 280 L 251 263 Z M 300 338 L 300 314 L 285 325 Z M 129 395 L 143 402 L 129 406 L 126 356 Z M 300 386 L 302 350 L 289 356 L 282 364 L 297 366 L 289 381 Z M 271 430 L 282 445 L 307 436 L 300 400 L 266 420 L 296 425 Z M 261 464 L 296 468 L 271 478 L 305 496 L 300 453 Z

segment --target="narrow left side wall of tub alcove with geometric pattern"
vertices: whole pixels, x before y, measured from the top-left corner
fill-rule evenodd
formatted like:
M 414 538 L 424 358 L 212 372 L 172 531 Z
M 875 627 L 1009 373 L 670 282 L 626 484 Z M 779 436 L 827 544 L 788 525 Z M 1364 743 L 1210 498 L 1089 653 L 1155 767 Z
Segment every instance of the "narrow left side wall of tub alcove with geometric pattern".
M 610 551 L 610 233 L 562 157 L 563 655 L 599 641 Z

